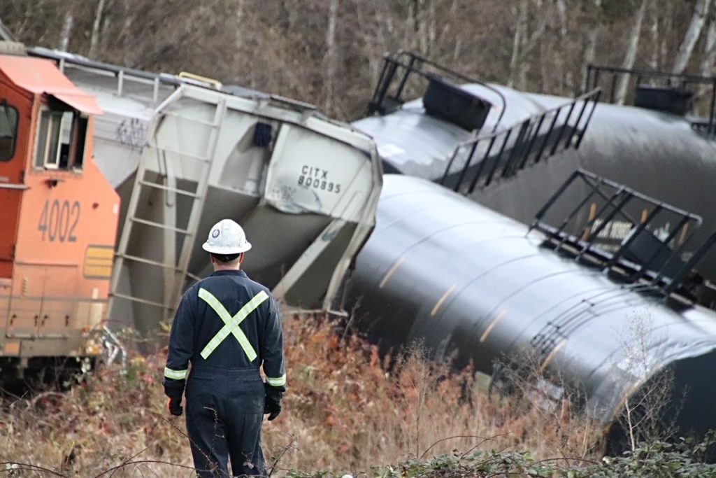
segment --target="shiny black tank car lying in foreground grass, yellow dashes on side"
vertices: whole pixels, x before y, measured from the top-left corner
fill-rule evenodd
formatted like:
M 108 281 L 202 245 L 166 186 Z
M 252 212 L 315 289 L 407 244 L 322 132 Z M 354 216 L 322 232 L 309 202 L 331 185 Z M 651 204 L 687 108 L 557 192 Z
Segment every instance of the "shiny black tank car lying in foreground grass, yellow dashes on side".
M 581 384 L 583 411 L 613 426 L 614 446 L 621 407 L 665 371 L 674 386 L 664 421 L 684 435 L 716 428 L 716 314 L 666 305 L 658 283 L 676 284 L 664 277 L 615 280 L 557 254 L 546 246 L 558 236 L 545 231 L 420 178 L 385 175 L 350 284 L 354 323 L 384 353 L 418 340 L 431 358 L 489 376 L 495 360 L 532 350 L 541 368 Z

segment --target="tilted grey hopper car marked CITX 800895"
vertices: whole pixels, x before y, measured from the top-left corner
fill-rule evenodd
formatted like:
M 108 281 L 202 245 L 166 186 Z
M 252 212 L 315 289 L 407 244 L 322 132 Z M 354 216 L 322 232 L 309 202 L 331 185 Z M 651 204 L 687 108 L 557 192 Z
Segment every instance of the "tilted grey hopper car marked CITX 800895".
M 242 268 L 276 298 L 339 311 L 374 226 L 374 142 L 311 105 L 195 75 L 154 75 L 47 49 L 107 112 L 97 162 L 122 197 L 110 320 L 145 336 L 211 273 L 201 249 L 229 217 L 253 244 Z

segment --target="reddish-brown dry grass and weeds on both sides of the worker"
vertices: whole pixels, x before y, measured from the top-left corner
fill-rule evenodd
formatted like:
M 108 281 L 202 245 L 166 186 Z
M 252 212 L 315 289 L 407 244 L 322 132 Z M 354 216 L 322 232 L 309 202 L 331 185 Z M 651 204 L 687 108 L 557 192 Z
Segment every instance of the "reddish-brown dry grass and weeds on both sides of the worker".
M 374 348 L 341 341 L 328 324 L 296 317 L 285 331 L 289 393 L 279 419 L 263 427 L 274 476 L 373 476 L 376 467 L 475 448 L 581 458 L 596 443 L 594 428 L 565 408 L 490 400 L 472 374 L 450 374 L 420 353 L 389 373 Z M 0 462 L 43 469 L 16 474 L 22 477 L 192 476 L 184 468 L 191 459 L 183 418 L 164 408 L 164 361 L 163 354 L 137 356 L 124 373 L 112 365 L 66 393 L 6 404 Z

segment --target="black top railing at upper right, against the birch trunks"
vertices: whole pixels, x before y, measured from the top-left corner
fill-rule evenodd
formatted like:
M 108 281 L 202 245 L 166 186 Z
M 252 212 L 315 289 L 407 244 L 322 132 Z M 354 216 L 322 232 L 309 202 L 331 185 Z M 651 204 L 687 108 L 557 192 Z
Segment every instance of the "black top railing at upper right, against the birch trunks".
M 624 98 L 617 97 L 621 81 L 627 81 Z M 606 102 L 700 115 L 702 119 L 690 119 L 692 127 L 716 135 L 716 77 L 589 64 L 585 90 L 595 87 L 604 90 L 602 100 Z

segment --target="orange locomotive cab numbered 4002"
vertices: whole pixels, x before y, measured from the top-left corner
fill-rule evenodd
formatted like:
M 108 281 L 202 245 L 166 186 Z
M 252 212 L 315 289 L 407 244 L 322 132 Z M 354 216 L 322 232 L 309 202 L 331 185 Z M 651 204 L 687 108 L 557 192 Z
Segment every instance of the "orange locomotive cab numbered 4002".
M 0 368 L 100 353 L 120 199 L 87 95 L 47 59 L 0 55 Z

